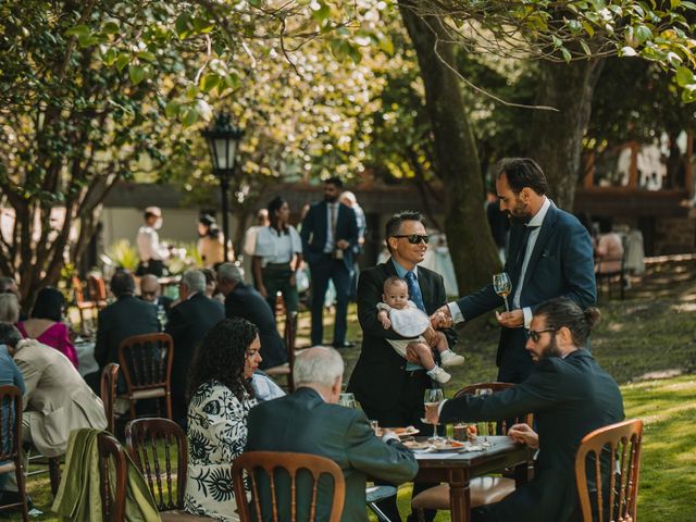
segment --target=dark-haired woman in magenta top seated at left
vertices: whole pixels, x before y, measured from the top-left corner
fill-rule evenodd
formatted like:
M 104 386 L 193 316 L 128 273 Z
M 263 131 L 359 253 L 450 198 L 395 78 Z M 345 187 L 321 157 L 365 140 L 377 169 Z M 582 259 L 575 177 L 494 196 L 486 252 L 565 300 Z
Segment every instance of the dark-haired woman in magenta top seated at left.
M 20 321 L 17 328 L 22 336 L 36 339 L 42 345 L 55 348 L 63 353 L 75 368 L 78 368 L 77 352 L 72 340 L 67 325 L 62 323 L 65 298 L 55 288 L 47 286 L 39 290 L 32 314 L 26 321 Z

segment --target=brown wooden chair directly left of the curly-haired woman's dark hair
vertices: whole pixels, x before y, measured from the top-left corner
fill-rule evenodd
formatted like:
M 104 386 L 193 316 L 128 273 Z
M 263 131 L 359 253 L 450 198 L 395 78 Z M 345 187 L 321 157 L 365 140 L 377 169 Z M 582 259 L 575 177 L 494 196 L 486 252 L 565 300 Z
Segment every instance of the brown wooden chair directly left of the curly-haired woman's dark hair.
M 119 362 L 126 382 L 130 418 L 135 403 L 142 399 L 164 399 L 166 418 L 172 419 L 171 373 L 174 341 L 169 334 L 134 335 L 119 345 Z M 158 417 L 160 411 L 158 400 Z

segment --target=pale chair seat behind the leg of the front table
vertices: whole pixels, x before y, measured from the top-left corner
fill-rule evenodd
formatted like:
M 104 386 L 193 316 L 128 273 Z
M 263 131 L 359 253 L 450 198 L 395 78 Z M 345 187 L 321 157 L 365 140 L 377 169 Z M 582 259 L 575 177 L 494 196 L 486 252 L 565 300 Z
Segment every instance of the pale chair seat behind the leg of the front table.
M 514 481 L 499 476 L 477 476 L 469 483 L 471 507 L 486 506 L 502 500 L 514 492 Z M 413 509 L 449 509 L 449 484 L 440 484 L 421 492 L 411 501 Z

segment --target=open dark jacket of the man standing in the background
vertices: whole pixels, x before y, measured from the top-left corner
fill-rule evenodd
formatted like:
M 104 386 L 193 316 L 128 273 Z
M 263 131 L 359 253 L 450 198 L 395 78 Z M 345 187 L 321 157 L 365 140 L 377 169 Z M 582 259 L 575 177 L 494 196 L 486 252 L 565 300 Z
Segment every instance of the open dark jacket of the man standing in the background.
M 302 239 L 302 254 L 310 264 L 323 259 L 326 235 L 328 234 L 328 210 L 326 201 L 320 201 L 310 207 L 309 212 L 302 220 L 300 238 Z M 345 239 L 350 244 L 344 250 L 344 263 L 349 272 L 352 271 L 352 251 L 358 245 L 358 221 L 356 212 L 344 203 L 338 204 L 338 215 L 336 216 L 336 237 L 334 243 Z

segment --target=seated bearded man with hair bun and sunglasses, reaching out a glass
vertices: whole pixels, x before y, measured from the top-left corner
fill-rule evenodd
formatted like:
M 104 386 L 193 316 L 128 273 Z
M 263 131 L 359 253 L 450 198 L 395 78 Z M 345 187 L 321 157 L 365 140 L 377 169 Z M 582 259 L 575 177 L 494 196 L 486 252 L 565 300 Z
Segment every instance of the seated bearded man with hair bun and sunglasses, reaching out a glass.
M 428 410 L 431 422 L 493 421 L 534 413 L 535 433 L 515 424 L 509 435 L 538 448 L 536 473 L 502 501 L 472 512 L 474 522 L 580 520 L 574 463 L 581 439 L 623 420 L 619 386 L 584 348 L 599 311 L 568 298 L 537 307 L 526 350 L 535 366 L 521 384 L 490 396 L 462 396 Z M 604 467 L 602 467 L 604 468 Z M 611 469 L 611 468 L 607 468 Z M 602 481 L 607 482 L 607 481 Z

